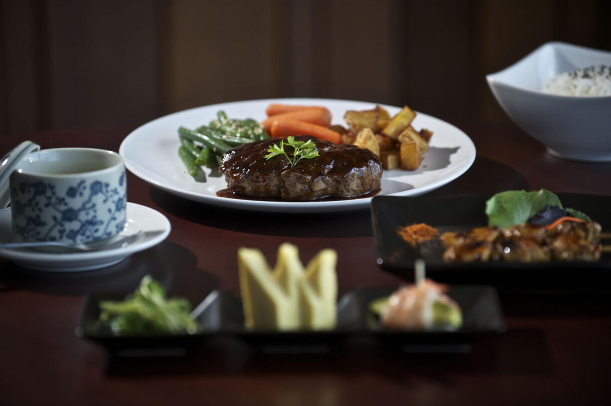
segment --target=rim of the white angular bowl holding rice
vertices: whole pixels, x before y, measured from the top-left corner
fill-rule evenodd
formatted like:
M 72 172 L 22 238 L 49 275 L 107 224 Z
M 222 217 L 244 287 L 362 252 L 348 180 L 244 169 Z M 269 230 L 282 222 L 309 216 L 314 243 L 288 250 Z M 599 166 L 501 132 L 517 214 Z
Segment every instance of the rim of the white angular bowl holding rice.
M 490 73 L 486 75 L 486 80 L 488 80 L 488 83 L 490 85 L 492 85 L 492 83 L 494 82 L 494 84 L 496 86 L 500 86 L 500 87 L 506 87 L 506 88 L 510 88 L 510 89 L 514 89 L 514 90 L 519 90 L 519 91 L 524 91 L 526 93 L 531 93 L 531 94 L 535 94 L 537 96 L 540 96 L 541 98 L 547 98 L 547 99 L 573 99 L 575 101 L 579 100 L 579 102 L 582 103 L 588 103 L 588 102 L 596 102 L 596 101 L 601 101 L 601 100 L 608 100 L 611 99 L 611 95 L 609 96 L 568 96 L 565 94 L 551 94 L 551 93 L 544 93 L 542 90 L 532 90 L 526 87 L 522 87 L 519 85 L 514 85 L 511 83 L 508 83 L 505 80 L 500 80 L 498 79 L 497 76 L 503 74 L 503 73 L 507 73 L 508 71 L 511 71 L 513 69 L 515 69 L 519 64 L 523 63 L 525 60 L 534 57 L 535 54 L 538 54 L 539 52 L 543 51 L 544 48 L 552 48 L 552 47 L 562 47 L 562 48 L 569 48 L 569 49 L 576 49 L 579 51 L 589 51 L 589 52 L 595 52 L 595 53 L 609 53 L 609 58 L 611 60 L 611 52 L 609 51 L 605 51 L 603 49 L 595 49 L 595 48 L 588 48 L 585 46 L 579 46 L 579 45 L 574 45 L 574 44 L 569 44 L 569 43 L 565 43 L 565 42 L 561 42 L 561 41 L 551 41 L 551 42 L 547 42 L 544 43 L 543 45 L 538 46 L 535 50 L 533 50 L 532 52 L 530 52 L 529 54 L 525 55 L 524 57 L 522 57 L 521 59 L 519 59 L 518 61 L 512 63 L 510 66 L 507 66 L 507 68 L 501 69 L 500 71 L 497 71 L 495 73 Z M 586 65 L 586 66 L 590 66 L 590 65 Z M 609 66 L 611 66 L 611 62 L 609 63 Z M 582 66 L 582 68 L 585 66 Z

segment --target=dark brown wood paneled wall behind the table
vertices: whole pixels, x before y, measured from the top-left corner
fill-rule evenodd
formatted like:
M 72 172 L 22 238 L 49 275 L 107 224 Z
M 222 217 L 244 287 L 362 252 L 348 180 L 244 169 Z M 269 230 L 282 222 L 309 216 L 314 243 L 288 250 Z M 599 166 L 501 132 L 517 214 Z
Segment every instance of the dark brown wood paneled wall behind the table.
M 541 43 L 611 49 L 608 0 L 0 0 L 0 136 L 324 97 L 507 120 L 485 74 Z

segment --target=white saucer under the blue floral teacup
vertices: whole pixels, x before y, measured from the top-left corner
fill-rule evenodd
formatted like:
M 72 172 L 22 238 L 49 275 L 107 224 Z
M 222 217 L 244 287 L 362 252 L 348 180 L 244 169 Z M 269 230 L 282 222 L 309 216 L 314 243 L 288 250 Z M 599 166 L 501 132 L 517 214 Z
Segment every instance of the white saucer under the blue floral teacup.
M 123 248 L 102 249 L 92 252 L 54 253 L 40 252 L 33 249 L 0 249 L 0 258 L 6 258 L 24 268 L 48 272 L 78 272 L 104 268 L 121 262 L 134 252 L 151 248 L 165 240 L 170 233 L 170 222 L 163 214 L 150 207 L 127 204 L 127 224 L 121 235 L 131 235 L 138 231 L 144 238 L 138 238 Z M 147 236 L 146 232 L 161 231 Z M 10 207 L 0 210 L 0 241 L 10 242 L 15 237 L 10 227 Z

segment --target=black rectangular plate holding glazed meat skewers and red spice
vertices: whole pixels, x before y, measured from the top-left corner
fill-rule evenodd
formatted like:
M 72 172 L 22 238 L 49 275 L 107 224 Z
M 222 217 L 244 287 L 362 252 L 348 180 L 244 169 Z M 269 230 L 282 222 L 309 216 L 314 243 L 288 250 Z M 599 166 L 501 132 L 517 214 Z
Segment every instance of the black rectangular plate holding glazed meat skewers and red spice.
M 485 283 L 511 287 L 587 287 L 609 282 L 611 254 L 602 254 L 598 262 L 545 263 L 444 263 L 438 238 L 415 248 L 398 234 L 400 227 L 426 223 L 439 230 L 468 230 L 486 226 L 486 201 L 492 194 L 468 194 L 447 198 L 417 196 L 376 196 L 371 202 L 373 237 L 378 264 L 405 280 L 414 280 L 414 261 L 423 258 L 426 275 L 437 282 Z M 559 193 L 564 207 L 587 213 L 602 226 L 611 229 L 611 196 Z

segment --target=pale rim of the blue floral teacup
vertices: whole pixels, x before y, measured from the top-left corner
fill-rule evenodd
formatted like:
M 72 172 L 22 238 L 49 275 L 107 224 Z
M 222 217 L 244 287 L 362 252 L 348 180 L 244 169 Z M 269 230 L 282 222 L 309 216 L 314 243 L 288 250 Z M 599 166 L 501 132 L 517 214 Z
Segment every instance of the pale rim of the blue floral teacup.
M 31 170 L 28 168 L 29 162 L 39 162 L 40 157 L 43 155 L 48 155 L 51 153 L 59 152 L 59 160 L 65 159 L 70 154 L 78 154 L 79 157 L 82 158 L 84 154 L 89 155 L 92 159 L 104 157 L 109 159 L 108 165 L 106 168 L 94 169 L 91 171 L 82 171 L 75 173 L 42 173 Z M 76 156 L 76 155 L 73 155 Z M 70 159 L 70 158 L 68 158 Z M 53 161 L 48 161 L 50 165 L 53 165 Z M 42 178 L 66 178 L 66 177 L 75 177 L 75 176 L 103 176 L 108 173 L 112 173 L 117 170 L 117 167 L 124 166 L 123 157 L 119 155 L 119 153 L 114 151 L 109 151 L 106 149 L 98 149 L 98 148 L 51 148 L 51 149 L 41 149 L 40 151 L 31 152 L 27 154 L 26 157 L 18 163 L 15 171 L 18 172 L 21 176 L 35 176 Z

